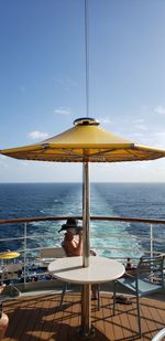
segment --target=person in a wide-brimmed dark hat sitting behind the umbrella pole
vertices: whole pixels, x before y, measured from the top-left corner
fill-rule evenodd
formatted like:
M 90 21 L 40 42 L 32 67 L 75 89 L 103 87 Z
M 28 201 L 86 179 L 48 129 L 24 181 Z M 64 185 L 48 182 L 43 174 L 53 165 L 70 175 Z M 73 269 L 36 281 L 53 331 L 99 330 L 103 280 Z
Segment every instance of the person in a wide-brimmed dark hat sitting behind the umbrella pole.
M 75 217 L 69 217 L 66 224 L 62 225 L 58 231 L 66 231 L 62 247 L 65 251 L 67 257 L 81 256 L 82 255 L 82 227 L 78 224 Z M 92 256 L 96 256 L 95 252 L 90 252 Z M 97 299 L 98 286 L 91 286 L 92 299 Z

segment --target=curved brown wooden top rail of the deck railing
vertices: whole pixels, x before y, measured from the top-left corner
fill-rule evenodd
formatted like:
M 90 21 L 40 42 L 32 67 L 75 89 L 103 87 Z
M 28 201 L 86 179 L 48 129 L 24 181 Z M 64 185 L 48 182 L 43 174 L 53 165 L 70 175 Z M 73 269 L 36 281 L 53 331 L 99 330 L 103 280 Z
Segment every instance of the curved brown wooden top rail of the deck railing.
M 19 217 L 19 219 L 8 219 L 0 220 L 0 225 L 2 224 L 14 224 L 14 223 L 32 223 L 32 222 L 44 222 L 44 221 L 66 221 L 70 216 L 35 216 L 35 217 Z M 78 220 L 82 220 L 81 216 L 75 216 Z M 163 224 L 165 225 L 165 220 L 153 220 L 153 219 L 140 219 L 140 217 L 121 217 L 121 216 L 90 216 L 91 221 L 118 221 L 118 222 L 131 222 L 131 223 L 148 223 L 148 224 Z

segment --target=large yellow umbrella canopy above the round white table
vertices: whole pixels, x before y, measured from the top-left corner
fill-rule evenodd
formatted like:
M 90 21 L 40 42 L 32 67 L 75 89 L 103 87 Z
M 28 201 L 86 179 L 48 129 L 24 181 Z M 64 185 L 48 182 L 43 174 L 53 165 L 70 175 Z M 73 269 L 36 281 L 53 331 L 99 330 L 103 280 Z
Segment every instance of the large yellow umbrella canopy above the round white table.
M 24 160 L 56 162 L 120 162 L 154 160 L 165 150 L 135 145 L 99 127 L 92 118 L 79 118 L 74 127 L 35 145 L 0 150 Z

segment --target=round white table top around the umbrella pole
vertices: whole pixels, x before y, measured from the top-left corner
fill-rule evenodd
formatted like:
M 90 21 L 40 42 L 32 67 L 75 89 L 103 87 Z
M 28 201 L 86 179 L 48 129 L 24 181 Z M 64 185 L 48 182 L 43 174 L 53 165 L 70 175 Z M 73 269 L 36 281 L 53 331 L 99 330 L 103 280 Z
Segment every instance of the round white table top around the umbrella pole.
M 82 257 L 56 258 L 48 265 L 48 271 L 64 281 L 77 284 L 105 283 L 121 277 L 124 266 L 113 259 L 90 256 L 89 267 L 82 267 Z

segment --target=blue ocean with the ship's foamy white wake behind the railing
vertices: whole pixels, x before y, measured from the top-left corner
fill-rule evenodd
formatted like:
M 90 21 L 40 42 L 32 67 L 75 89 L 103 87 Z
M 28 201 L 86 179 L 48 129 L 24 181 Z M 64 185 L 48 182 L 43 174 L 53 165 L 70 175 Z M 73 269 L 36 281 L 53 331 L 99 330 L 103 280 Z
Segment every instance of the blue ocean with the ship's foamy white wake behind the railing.
M 91 183 L 91 215 L 165 220 L 165 183 Z M 81 183 L 1 183 L 0 220 L 82 214 Z M 62 222 L 28 224 L 28 247 L 58 246 Z M 148 225 L 119 222 L 91 222 L 91 247 L 111 257 L 140 257 L 150 249 Z M 46 234 L 52 236 L 45 238 Z M 98 236 L 96 235 L 98 234 Z M 0 225 L 0 249 L 23 248 L 23 224 Z M 34 238 L 34 235 L 37 238 Z M 154 228 L 154 249 L 165 252 L 165 225 Z M 107 247 L 109 249 L 102 249 Z

